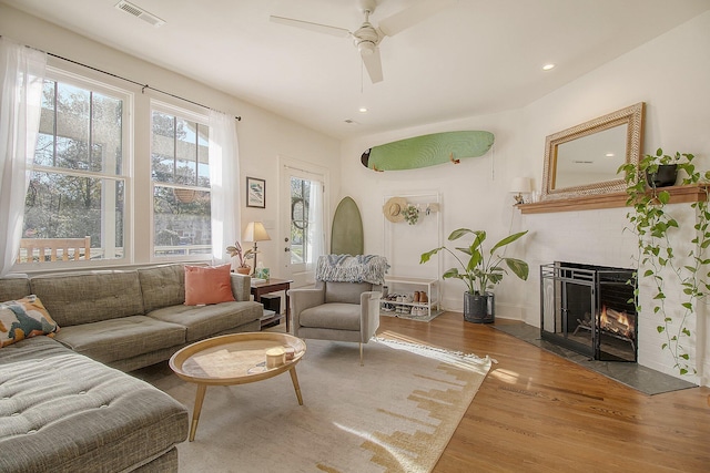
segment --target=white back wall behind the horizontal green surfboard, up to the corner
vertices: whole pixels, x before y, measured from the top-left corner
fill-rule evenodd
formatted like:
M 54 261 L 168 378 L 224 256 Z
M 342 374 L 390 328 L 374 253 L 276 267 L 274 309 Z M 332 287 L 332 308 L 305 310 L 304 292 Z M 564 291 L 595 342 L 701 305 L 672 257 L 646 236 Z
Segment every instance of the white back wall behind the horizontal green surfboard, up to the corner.
M 477 116 L 429 126 L 399 130 L 382 133 L 363 138 L 351 140 L 343 144 L 343 195 L 352 195 L 361 206 L 365 222 L 365 250 L 373 254 L 387 254 L 384 248 L 385 232 L 390 226 L 384 219 L 382 206 L 386 196 L 416 195 L 439 193 L 442 196 L 442 225 L 444 239 L 456 228 L 485 229 L 488 233 L 490 246 L 520 226 L 520 215 L 514 209 L 514 199 L 508 188 L 514 177 L 520 171 L 511 166 L 519 155 L 515 142 L 516 124 L 520 121 L 520 112 L 507 112 L 489 116 Z M 364 167 L 361 154 L 368 147 L 388 143 L 404 137 L 417 136 L 426 133 L 453 130 L 485 130 L 494 133 L 496 143 L 491 151 L 480 157 L 462 160 L 459 164 L 444 164 L 420 169 L 377 173 Z M 412 200 L 412 199 L 410 199 Z M 424 217 L 426 218 L 426 217 Z M 400 267 L 393 267 L 390 274 L 396 276 L 426 277 L 432 275 L 428 266 L 417 270 L 419 255 L 435 247 L 432 238 L 419 235 L 424 230 L 422 225 L 408 226 L 398 224 L 393 243 L 409 248 L 412 261 L 403 264 L 402 257 L 394 263 L 407 267 L 407 274 L 398 274 Z M 525 245 L 511 246 L 509 256 L 521 255 Z M 397 251 L 400 254 L 403 251 Z M 432 261 L 427 265 L 436 265 Z M 444 267 L 454 265 L 453 258 L 445 259 Z M 414 266 L 414 268 L 413 268 Z M 436 271 L 434 271 L 436 276 Z M 507 307 L 508 313 L 520 317 L 521 305 L 516 302 L 516 292 L 523 291 L 523 282 L 510 278 L 506 281 L 509 290 L 496 292 L 496 305 Z M 446 281 L 443 290 L 444 307 L 462 310 L 462 281 Z

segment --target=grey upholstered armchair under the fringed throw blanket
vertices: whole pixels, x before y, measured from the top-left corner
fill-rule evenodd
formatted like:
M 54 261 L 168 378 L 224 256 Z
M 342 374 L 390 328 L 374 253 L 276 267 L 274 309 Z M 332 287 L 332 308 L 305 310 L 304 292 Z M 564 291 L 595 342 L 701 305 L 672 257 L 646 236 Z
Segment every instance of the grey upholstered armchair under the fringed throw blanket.
M 326 261 L 324 258 L 318 260 L 320 268 Z M 385 261 L 385 269 L 386 266 Z M 305 339 L 357 342 L 359 363 L 363 364 L 363 343 L 367 343 L 379 327 L 382 286 L 366 281 L 325 281 L 318 280 L 320 276 L 324 279 L 323 271 L 316 270 L 315 288 L 291 289 L 288 292 L 293 335 Z

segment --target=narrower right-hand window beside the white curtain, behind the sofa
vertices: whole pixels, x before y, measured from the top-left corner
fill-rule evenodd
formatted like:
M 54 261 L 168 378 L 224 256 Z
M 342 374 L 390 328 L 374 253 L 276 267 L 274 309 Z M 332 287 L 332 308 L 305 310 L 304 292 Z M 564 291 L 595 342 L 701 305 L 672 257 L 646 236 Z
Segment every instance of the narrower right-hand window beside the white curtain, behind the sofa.
M 200 255 L 212 253 L 210 128 L 205 121 L 186 111 L 153 107 L 154 257 L 204 258 Z

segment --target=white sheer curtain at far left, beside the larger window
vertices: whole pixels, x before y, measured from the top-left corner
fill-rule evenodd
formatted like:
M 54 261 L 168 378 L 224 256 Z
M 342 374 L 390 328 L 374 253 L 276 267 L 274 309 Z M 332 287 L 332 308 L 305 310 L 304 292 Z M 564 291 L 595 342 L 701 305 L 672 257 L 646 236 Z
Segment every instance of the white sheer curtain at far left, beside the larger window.
M 45 53 L 0 38 L 0 276 L 20 249 L 45 70 Z

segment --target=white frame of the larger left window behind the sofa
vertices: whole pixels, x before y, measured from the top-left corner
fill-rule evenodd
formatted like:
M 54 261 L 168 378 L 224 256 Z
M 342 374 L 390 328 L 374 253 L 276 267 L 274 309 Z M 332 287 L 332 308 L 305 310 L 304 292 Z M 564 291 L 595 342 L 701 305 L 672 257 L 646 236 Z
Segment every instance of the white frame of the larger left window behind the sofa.
M 94 174 L 85 173 L 77 169 L 71 169 L 72 175 L 89 176 L 95 178 L 108 178 L 124 182 L 124 208 L 123 208 L 123 258 L 102 258 L 95 260 L 70 260 L 70 261 L 52 261 L 52 263 L 16 263 L 13 270 L 23 273 L 38 273 L 38 271 L 57 271 L 69 269 L 81 269 L 92 267 L 108 267 L 108 266 L 126 266 L 133 263 L 133 156 L 134 156 L 134 143 L 133 143 L 133 111 L 135 104 L 135 95 L 122 88 L 109 84 L 106 82 L 98 81 L 85 75 L 75 74 L 55 66 L 48 66 L 45 80 L 73 85 L 80 89 L 91 90 L 104 95 L 110 95 L 123 101 L 122 116 L 121 116 L 121 141 L 122 141 L 122 164 L 121 174 Z M 52 168 L 45 168 L 43 166 L 33 166 L 33 171 L 47 169 L 49 172 Z M 61 173 L 61 169 L 59 171 Z

